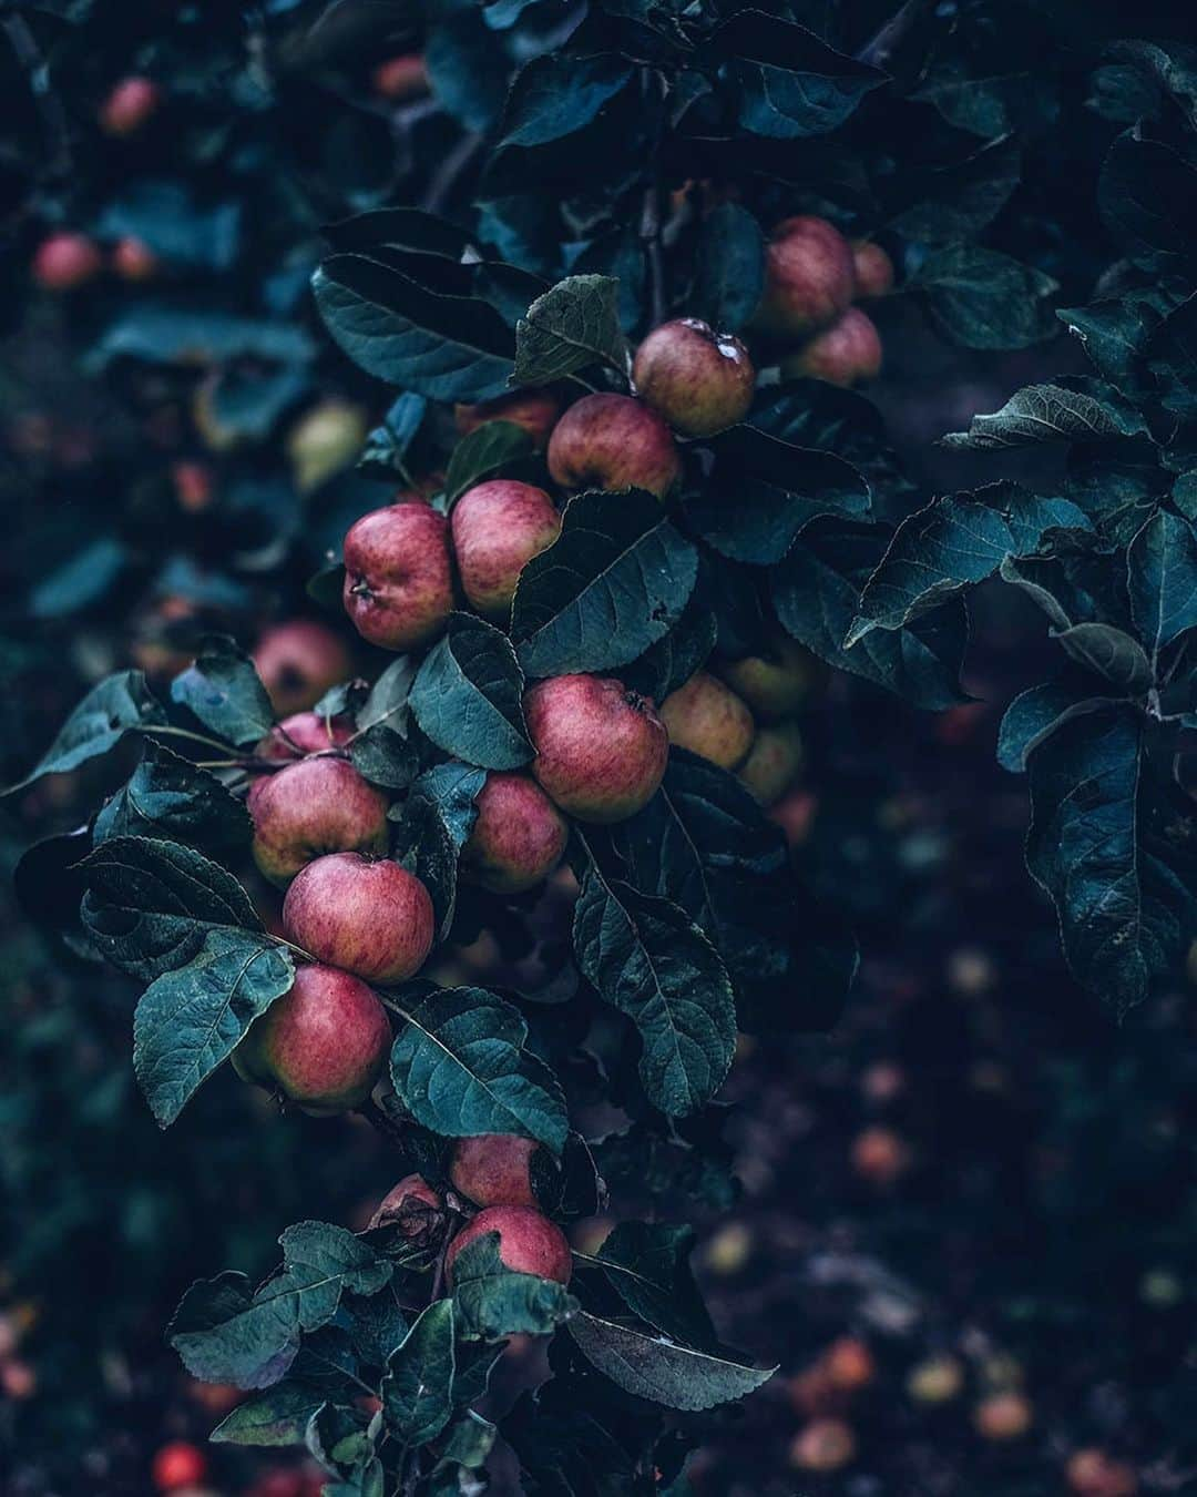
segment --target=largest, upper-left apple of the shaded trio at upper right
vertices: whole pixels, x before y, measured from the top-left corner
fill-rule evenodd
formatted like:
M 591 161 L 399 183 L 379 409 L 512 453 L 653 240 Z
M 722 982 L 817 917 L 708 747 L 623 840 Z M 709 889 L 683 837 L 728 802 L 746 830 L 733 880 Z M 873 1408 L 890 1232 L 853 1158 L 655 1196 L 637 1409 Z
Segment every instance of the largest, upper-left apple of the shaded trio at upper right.
M 856 295 L 851 246 L 827 223 L 784 219 L 765 247 L 765 293 L 753 326 L 772 338 L 803 338 L 842 316 Z

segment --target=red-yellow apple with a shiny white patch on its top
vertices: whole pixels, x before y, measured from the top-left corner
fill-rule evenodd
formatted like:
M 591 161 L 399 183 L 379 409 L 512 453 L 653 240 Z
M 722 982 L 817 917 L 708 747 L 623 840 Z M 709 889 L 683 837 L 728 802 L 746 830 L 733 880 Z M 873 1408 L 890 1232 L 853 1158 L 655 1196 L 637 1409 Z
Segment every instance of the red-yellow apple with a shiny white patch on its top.
M 711 437 L 744 421 L 756 380 L 739 338 L 715 332 L 699 317 L 654 328 L 631 365 L 636 394 L 684 437 Z

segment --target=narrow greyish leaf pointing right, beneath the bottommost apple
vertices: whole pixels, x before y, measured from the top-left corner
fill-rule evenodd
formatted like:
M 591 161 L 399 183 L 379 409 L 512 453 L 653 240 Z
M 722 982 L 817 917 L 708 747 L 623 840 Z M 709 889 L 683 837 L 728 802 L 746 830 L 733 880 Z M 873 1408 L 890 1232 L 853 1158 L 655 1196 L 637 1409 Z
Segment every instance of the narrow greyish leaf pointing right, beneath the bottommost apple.
M 669 1409 L 702 1412 L 756 1392 L 777 1371 L 676 1346 L 661 1335 L 582 1311 L 569 1322 L 578 1349 L 618 1388 Z

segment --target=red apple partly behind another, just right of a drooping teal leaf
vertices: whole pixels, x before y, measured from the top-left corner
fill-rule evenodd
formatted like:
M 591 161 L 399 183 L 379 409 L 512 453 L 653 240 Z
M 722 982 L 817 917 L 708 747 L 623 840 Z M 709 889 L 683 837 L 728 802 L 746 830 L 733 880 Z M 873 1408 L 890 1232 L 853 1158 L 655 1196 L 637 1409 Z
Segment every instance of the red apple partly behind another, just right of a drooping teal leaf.
M 389 1054 L 391 1022 L 371 990 L 337 967 L 304 963 L 232 1060 L 242 1081 L 280 1091 L 313 1117 L 332 1117 L 365 1102 Z

